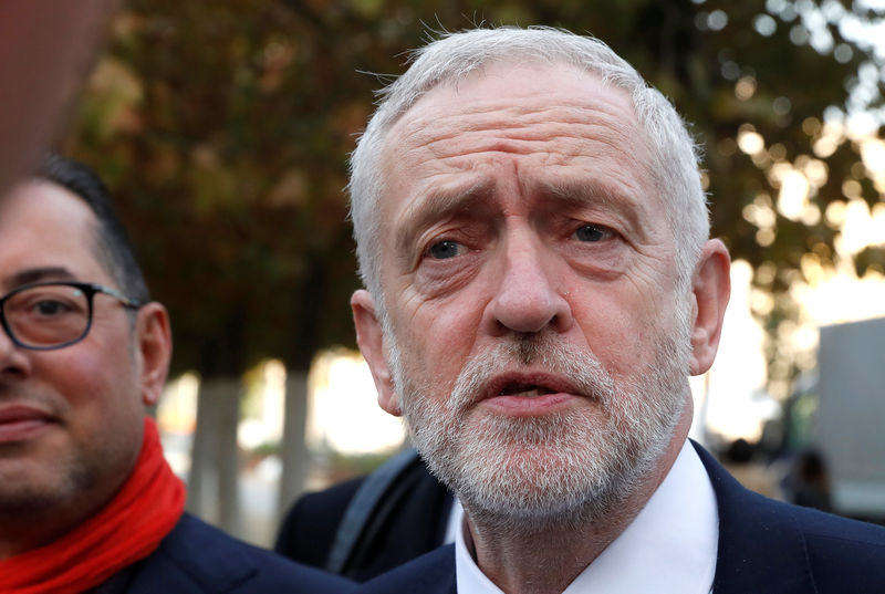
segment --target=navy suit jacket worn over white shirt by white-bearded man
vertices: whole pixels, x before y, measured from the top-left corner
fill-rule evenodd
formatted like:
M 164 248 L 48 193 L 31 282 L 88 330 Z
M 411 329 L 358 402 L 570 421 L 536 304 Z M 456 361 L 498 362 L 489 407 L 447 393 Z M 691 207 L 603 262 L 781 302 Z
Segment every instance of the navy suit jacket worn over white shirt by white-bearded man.
M 696 446 L 716 491 L 719 550 L 715 594 L 885 592 L 885 529 L 748 491 Z M 447 545 L 373 580 L 360 594 L 454 594 Z

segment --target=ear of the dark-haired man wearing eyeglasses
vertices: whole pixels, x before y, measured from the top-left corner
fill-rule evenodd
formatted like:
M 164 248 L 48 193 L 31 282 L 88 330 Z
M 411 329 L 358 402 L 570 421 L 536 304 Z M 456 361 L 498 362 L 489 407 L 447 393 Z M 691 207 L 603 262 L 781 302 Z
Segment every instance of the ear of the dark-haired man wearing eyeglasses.
M 166 308 L 152 301 L 138 310 L 135 341 L 140 359 L 142 402 L 145 406 L 154 406 L 166 385 L 173 353 L 169 314 L 166 313 Z

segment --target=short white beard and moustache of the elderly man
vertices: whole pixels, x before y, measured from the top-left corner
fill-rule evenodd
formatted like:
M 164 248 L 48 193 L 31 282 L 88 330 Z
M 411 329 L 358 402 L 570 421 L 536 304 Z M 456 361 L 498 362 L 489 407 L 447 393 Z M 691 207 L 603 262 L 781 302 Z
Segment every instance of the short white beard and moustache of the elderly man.
M 471 518 L 544 528 L 603 519 L 648 476 L 685 406 L 688 345 L 687 332 L 659 340 L 648 368 L 616 382 L 553 333 L 502 341 L 467 362 L 447 402 L 404 372 L 400 353 L 388 361 L 415 448 Z M 529 418 L 480 415 L 489 378 L 520 363 L 568 377 L 593 405 Z

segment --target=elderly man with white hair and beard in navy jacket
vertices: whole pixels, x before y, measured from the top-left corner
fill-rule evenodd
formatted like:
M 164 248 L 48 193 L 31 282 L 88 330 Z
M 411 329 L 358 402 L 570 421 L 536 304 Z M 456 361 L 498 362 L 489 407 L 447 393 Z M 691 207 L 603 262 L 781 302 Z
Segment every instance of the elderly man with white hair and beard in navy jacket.
M 885 530 L 688 440 L 730 290 L 698 160 L 564 31 L 449 34 L 384 90 L 352 160 L 357 342 L 464 519 L 365 592 L 885 592 Z

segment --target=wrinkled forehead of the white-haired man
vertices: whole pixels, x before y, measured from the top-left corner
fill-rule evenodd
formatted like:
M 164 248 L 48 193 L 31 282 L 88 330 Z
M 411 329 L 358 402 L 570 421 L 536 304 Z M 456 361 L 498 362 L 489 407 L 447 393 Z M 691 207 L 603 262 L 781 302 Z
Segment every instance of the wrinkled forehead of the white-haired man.
M 385 196 L 402 195 L 398 186 L 415 175 L 416 164 L 446 163 L 464 171 L 489 153 L 523 153 L 540 156 L 553 171 L 617 159 L 622 171 L 650 180 L 648 147 L 623 88 L 568 64 L 494 62 L 435 86 L 391 127 L 379 161 L 381 207 Z M 433 175 L 426 179 L 435 183 Z

